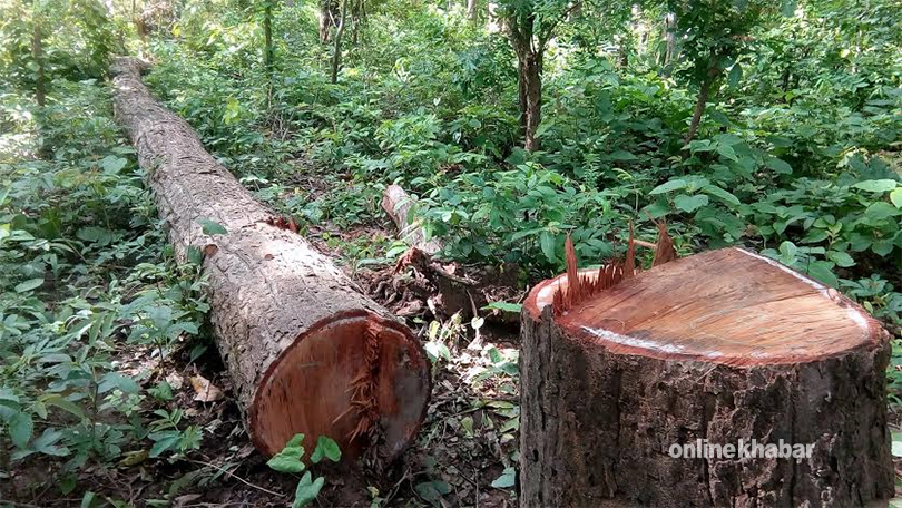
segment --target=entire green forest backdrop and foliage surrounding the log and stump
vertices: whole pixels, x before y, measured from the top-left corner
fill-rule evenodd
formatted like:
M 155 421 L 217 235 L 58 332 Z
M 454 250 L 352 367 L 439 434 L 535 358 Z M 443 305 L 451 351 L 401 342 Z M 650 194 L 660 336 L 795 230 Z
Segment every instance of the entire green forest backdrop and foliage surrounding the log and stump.
M 398 184 L 440 258 L 517 265 L 519 290 L 565 270 L 567 235 L 592 266 L 666 221 L 679 255 L 759 252 L 898 341 L 900 27 L 892 0 L 0 0 L 0 499 L 182 506 L 265 475 L 238 447 L 210 466 L 223 436 L 165 375 L 222 367 L 198 260 L 176 263 L 114 120 L 115 57 L 148 60 L 156 97 L 349 272 L 405 252 L 380 208 Z M 439 321 L 420 320 L 427 350 L 458 364 L 482 323 Z M 516 392 L 516 350 L 491 350 L 468 382 Z M 513 499 L 504 403 L 492 442 L 472 418 L 453 431 Z M 361 496 L 472 505 L 448 460 Z

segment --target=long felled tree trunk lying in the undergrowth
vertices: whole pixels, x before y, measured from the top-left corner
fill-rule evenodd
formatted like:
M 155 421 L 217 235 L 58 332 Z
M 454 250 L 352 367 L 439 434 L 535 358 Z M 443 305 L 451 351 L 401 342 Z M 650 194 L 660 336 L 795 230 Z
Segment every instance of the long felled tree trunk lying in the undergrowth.
M 414 439 L 430 394 L 419 341 L 219 165 L 157 104 L 140 65 L 119 59 L 115 109 L 149 173 L 180 260 L 206 253 L 210 319 L 251 439 L 265 455 L 295 434 L 339 441 L 376 463 Z M 206 235 L 199 221 L 225 227 Z

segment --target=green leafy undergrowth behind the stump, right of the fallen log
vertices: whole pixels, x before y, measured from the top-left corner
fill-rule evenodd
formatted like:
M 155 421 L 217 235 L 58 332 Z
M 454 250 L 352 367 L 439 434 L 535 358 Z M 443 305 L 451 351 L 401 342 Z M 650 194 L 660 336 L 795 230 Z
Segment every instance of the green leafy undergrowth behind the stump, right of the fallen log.
M 212 37 L 158 42 L 150 82 L 264 199 L 307 223 L 370 222 L 398 183 L 444 255 L 518 263 L 537 280 L 561 271 L 568 233 L 597 264 L 622 251 L 630 222 L 650 238 L 663 217 L 680 254 L 762 251 L 898 326 L 898 14 L 831 9 L 753 27 L 754 51 L 728 62 L 688 143 L 690 59 L 663 68 L 646 50 L 625 66 L 575 26 L 546 62 L 542 149 L 523 150 L 502 35 L 416 3 L 372 13 L 337 85 L 301 4 L 276 19 L 286 36 L 272 82 L 241 11 Z M 321 193 L 294 185 L 305 173 Z

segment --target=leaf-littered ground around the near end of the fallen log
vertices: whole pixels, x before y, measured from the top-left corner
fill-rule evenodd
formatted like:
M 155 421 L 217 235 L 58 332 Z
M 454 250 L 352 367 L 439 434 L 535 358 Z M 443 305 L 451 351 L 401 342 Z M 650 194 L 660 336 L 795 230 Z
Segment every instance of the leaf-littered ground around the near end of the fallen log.
M 301 175 L 294 184 L 317 193 L 316 182 Z M 480 345 L 473 348 L 473 328 L 441 311 L 440 318 L 433 316 L 422 292 L 414 294 L 406 287 L 410 274 L 396 274 L 394 265 L 386 263 L 355 268 L 343 250 L 361 242 L 384 244 L 393 235 L 388 217 L 346 231 L 325 224 L 305 233 L 371 297 L 404 314 L 414 334 L 434 353 L 432 399 L 416 442 L 379 477 L 363 470 L 341 475 L 320 470 L 326 483 L 314 506 L 517 506 L 517 326 L 479 326 Z M 97 495 L 97 506 L 102 506 L 101 498 L 122 500 L 125 506 L 173 508 L 288 505 L 297 478 L 274 472 L 248 441 L 218 352 L 208 348 L 194 360 L 190 354 L 185 346 L 160 362 L 153 346 L 124 345 L 112 361 L 126 375 L 151 372 L 144 380 L 147 385 L 166 380 L 174 404 L 184 411 L 183 421 L 203 430 L 198 453 L 169 462 L 147 460 L 146 450 L 126 452 L 117 468 L 84 470 L 78 491 L 69 497 L 55 497 L 57 489 L 48 483 L 31 502 L 14 506 L 73 506 L 84 500 L 84 490 Z M 30 461 L 28 470 L 19 471 L 13 481 L 17 477 L 29 481 L 50 478 L 49 470 L 47 460 Z

